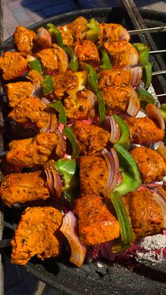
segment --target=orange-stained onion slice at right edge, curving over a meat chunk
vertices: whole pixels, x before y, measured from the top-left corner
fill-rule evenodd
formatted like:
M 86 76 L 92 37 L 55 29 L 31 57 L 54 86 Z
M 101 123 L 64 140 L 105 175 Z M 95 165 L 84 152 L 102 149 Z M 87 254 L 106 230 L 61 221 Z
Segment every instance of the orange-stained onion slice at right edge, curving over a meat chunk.
M 165 130 L 165 121 L 162 117 L 162 113 L 160 109 L 157 106 L 155 106 L 153 103 L 147 104 L 146 115 L 148 116 L 148 118 L 155 120 L 160 126 L 160 129 Z

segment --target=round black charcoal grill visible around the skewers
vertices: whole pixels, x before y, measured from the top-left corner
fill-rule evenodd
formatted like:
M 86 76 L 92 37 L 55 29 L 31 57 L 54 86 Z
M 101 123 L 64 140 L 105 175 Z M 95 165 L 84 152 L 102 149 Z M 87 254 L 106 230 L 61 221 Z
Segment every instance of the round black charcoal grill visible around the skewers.
M 126 1 L 128 3 L 128 1 Z M 166 23 L 166 13 L 139 9 L 128 13 L 121 8 L 93 8 L 82 11 L 74 11 L 56 15 L 39 23 L 31 25 L 36 30 L 46 23 L 64 25 L 70 23 L 79 15 L 88 20 L 96 18 L 99 22 L 122 23 L 129 30 L 138 29 L 140 21 L 137 13 L 140 13 L 147 27 L 160 27 Z M 137 15 L 137 16 L 136 16 Z M 143 27 L 141 23 L 140 27 Z M 153 39 L 151 38 L 153 37 Z M 139 41 L 138 36 L 132 37 L 132 42 Z M 158 32 L 141 36 L 141 41 L 148 43 L 151 50 L 166 48 L 166 32 Z M 13 44 L 13 37 L 4 42 L 5 45 Z M 153 59 L 153 70 L 166 70 L 166 59 L 164 55 L 155 55 Z M 166 93 L 165 75 L 153 77 L 153 87 L 157 94 Z M 6 218 L 6 217 L 5 217 Z M 6 251 L 10 256 L 10 249 Z M 64 252 L 60 258 L 50 258 L 39 261 L 37 258 L 22 267 L 37 279 L 49 284 L 51 287 L 63 292 L 63 294 L 166 294 L 166 261 L 151 265 L 149 263 L 138 264 L 134 258 L 129 261 L 107 261 L 86 262 L 82 268 L 76 268 L 69 263 L 68 256 Z

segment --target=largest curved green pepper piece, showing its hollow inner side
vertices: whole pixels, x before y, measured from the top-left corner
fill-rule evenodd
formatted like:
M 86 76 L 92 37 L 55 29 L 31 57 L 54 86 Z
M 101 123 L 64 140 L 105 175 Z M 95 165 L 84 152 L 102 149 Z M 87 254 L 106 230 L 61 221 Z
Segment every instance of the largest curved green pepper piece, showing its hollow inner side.
M 117 152 L 122 173 L 122 182 L 115 187 L 114 192 L 123 196 L 127 192 L 136 191 L 140 187 L 141 175 L 139 167 L 132 155 L 118 143 L 114 144 L 113 147 Z

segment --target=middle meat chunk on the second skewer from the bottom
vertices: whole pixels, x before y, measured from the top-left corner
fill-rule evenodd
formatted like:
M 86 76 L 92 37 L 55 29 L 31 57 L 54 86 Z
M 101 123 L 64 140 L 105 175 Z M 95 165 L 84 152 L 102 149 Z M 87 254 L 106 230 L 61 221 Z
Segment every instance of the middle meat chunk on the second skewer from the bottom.
M 82 194 L 104 196 L 107 193 L 108 166 L 103 157 L 79 157 L 79 180 Z

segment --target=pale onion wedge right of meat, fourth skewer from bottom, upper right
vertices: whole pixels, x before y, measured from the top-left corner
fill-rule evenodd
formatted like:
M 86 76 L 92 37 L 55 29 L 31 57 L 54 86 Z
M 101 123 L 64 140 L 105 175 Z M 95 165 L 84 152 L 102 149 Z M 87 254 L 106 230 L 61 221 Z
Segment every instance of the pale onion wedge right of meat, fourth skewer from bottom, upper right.
M 134 88 L 131 87 L 131 93 L 129 97 L 129 106 L 127 108 L 127 113 L 135 117 L 140 110 L 140 101 L 138 95 Z

